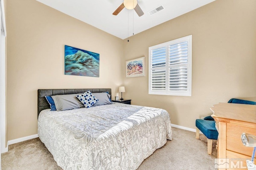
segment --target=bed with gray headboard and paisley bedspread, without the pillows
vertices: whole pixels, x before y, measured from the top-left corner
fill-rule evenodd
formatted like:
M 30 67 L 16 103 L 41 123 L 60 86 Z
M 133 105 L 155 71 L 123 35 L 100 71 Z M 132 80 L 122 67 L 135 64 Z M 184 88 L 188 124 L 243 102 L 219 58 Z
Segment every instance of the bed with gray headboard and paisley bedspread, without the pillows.
M 172 140 L 163 109 L 112 103 L 50 111 L 45 98 L 87 90 L 111 95 L 111 89 L 38 90 L 38 136 L 64 170 L 135 170 Z

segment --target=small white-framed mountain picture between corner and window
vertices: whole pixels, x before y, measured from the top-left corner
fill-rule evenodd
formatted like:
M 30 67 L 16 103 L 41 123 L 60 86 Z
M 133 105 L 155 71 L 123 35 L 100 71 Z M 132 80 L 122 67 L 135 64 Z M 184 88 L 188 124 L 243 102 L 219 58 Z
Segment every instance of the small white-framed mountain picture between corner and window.
M 145 76 L 145 57 L 126 61 L 126 77 Z

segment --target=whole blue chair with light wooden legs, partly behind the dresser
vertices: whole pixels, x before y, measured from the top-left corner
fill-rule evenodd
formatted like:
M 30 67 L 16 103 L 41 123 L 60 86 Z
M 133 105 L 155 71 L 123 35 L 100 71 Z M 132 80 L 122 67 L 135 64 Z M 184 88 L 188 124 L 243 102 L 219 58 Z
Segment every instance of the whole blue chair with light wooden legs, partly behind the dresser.
M 241 99 L 230 99 L 228 103 L 239 103 L 247 105 L 256 105 L 254 101 L 247 101 Z M 196 119 L 196 139 L 199 139 L 199 132 L 202 132 L 207 137 L 207 152 L 212 154 L 212 140 L 218 139 L 218 131 L 215 127 L 215 121 L 211 116 L 202 119 Z

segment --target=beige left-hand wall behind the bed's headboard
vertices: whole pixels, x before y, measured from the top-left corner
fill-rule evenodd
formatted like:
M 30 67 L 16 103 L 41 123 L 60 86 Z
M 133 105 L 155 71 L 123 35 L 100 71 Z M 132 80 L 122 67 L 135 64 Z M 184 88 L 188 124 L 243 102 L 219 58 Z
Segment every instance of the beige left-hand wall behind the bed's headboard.
M 123 40 L 36 0 L 7 3 L 7 137 L 37 134 L 37 89 L 116 88 Z M 100 53 L 100 77 L 64 75 L 64 45 Z

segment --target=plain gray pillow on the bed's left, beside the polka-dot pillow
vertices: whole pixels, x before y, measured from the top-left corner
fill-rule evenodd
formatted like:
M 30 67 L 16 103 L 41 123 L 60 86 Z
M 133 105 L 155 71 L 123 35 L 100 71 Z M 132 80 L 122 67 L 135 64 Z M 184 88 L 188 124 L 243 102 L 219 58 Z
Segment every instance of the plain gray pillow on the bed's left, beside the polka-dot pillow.
M 76 98 L 78 94 L 70 94 L 70 95 L 54 95 L 51 96 L 57 111 L 66 111 L 71 109 L 79 109 L 84 107 L 84 105 Z

